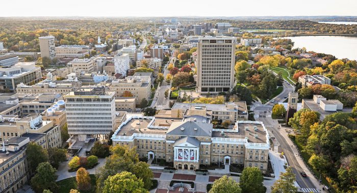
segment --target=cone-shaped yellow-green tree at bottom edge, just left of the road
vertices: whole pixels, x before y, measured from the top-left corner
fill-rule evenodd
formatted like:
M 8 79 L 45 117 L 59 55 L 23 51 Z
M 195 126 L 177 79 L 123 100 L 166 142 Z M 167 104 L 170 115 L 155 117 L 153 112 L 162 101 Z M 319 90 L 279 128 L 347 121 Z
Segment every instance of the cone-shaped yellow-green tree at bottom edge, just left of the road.
M 297 187 L 294 185 L 295 174 L 291 167 L 286 169 L 285 173 L 281 173 L 280 177 L 273 186 L 271 186 L 272 193 L 290 193 L 296 192 Z

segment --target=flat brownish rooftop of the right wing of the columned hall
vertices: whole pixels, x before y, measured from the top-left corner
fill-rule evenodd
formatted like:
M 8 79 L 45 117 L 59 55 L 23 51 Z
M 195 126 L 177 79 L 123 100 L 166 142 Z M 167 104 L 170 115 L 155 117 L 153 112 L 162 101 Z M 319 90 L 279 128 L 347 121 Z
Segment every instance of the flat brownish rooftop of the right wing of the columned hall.
M 257 127 L 257 131 L 254 131 L 254 126 Z M 248 130 L 245 130 L 248 128 Z M 244 139 L 248 138 L 248 142 L 252 143 L 266 143 L 266 133 L 263 130 L 263 126 L 260 124 L 238 124 L 237 132 L 224 132 L 224 135 L 219 131 L 213 131 L 212 137 L 224 137 L 224 138 L 234 138 L 234 139 Z M 257 137 L 255 136 L 257 135 Z

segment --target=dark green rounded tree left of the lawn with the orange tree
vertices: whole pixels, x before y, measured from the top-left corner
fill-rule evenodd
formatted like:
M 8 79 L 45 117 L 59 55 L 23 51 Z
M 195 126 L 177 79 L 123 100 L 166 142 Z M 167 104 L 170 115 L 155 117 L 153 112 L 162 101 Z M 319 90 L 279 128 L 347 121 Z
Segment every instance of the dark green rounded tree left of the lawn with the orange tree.
M 48 161 L 38 164 L 36 172 L 31 179 L 31 186 L 36 192 L 43 192 L 44 189 L 57 190 L 57 170 Z

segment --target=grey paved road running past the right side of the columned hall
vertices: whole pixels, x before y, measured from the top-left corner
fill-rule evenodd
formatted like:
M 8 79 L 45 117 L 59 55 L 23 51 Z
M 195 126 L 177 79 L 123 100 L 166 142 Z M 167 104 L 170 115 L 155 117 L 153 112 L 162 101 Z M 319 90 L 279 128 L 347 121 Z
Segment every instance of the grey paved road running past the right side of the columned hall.
M 284 82 L 283 86 L 284 90 L 273 99 L 274 102 L 271 102 L 271 100 L 265 105 L 262 105 L 259 102 L 254 103 L 254 117 L 256 120 L 263 122 L 267 130 L 270 131 L 270 133 L 275 137 L 273 143 L 275 146 L 278 146 L 278 152 L 284 152 L 289 165 L 293 168 L 294 174 L 296 175 L 296 182 L 299 186 L 301 188 L 315 188 L 315 185 L 310 180 L 310 177 L 303 178 L 301 176 L 300 172 L 304 170 L 297 160 L 298 155 L 293 153 L 293 149 L 291 144 L 288 142 L 289 139 L 287 136 L 284 136 L 281 133 L 281 130 L 278 129 L 279 124 L 277 120 L 271 118 L 272 106 L 279 102 L 284 102 L 287 99 L 285 96 L 288 95 L 290 91 L 294 90 L 294 87 L 287 82 Z

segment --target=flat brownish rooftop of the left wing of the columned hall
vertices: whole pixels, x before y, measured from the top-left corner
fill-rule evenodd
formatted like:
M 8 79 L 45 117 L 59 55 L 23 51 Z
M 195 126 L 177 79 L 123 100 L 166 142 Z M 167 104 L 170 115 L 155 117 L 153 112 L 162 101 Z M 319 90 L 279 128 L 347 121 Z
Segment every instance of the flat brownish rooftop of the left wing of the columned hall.
M 142 134 L 160 134 L 165 135 L 167 129 L 149 129 L 147 126 L 151 122 L 151 119 L 139 119 L 133 118 L 126 125 L 121 127 L 117 136 L 132 136 L 134 133 Z

